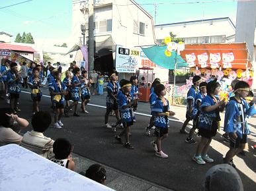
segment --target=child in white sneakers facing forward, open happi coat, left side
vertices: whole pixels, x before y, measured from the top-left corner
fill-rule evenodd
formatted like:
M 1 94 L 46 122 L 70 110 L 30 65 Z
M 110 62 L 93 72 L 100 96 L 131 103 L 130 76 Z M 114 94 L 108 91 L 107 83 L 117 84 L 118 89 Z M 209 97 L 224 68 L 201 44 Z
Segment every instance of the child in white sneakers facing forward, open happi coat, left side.
M 55 72 L 55 80 L 50 86 L 51 95 L 53 96 L 53 105 L 55 107 L 54 114 L 54 128 L 62 128 L 64 124 L 62 123 L 62 115 L 64 113 L 64 95 L 66 94 L 65 90 L 67 87 L 61 81 L 62 73 L 60 71 Z

